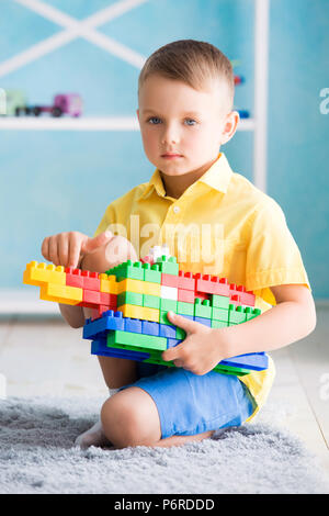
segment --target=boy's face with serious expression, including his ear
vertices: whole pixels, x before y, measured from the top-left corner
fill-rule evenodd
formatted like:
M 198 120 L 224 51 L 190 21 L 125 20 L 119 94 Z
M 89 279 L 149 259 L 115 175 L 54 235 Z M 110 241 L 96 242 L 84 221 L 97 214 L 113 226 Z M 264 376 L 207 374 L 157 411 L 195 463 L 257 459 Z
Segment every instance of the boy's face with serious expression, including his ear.
M 228 131 L 225 87 L 212 81 L 197 91 L 184 82 L 149 76 L 139 91 L 137 115 L 146 156 L 161 172 L 181 176 L 213 162 Z M 237 123 L 237 120 L 236 120 Z

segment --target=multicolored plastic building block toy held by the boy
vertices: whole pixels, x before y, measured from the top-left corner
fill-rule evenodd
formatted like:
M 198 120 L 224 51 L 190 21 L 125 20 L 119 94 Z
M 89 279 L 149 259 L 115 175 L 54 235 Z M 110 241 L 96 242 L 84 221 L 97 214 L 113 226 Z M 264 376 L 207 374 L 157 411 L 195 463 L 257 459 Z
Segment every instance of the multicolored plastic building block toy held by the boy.
M 160 246 L 143 261 L 127 260 L 105 273 L 31 261 L 23 282 L 38 285 L 43 300 L 92 309 L 83 338 L 92 341 L 93 355 L 167 367 L 174 364 L 161 359 L 162 351 L 185 337 L 168 321 L 168 311 L 212 328 L 241 324 L 261 313 L 254 307 L 254 294 L 245 287 L 226 278 L 183 272 L 175 257 Z M 222 360 L 214 370 L 243 375 L 266 368 L 266 355 L 258 352 Z

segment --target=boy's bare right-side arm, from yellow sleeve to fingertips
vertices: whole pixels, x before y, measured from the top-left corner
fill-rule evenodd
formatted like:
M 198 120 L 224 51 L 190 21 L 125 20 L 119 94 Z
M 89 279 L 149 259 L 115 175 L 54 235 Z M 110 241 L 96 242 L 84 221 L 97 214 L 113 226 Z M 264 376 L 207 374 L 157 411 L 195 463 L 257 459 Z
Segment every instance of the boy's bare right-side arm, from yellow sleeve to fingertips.
M 163 360 L 205 374 L 225 358 L 271 351 L 309 335 L 316 326 L 310 291 L 302 284 L 273 287 L 272 291 L 276 306 L 247 323 L 226 328 L 208 328 L 168 313 L 169 321 L 186 332 L 186 338 L 164 351 Z

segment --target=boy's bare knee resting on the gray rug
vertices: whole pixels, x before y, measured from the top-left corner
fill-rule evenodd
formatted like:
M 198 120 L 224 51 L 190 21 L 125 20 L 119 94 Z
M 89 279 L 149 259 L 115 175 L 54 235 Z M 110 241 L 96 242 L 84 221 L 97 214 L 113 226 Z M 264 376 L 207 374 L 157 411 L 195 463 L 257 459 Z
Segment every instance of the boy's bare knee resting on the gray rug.
M 157 406 L 139 388 L 128 388 L 106 400 L 101 420 L 105 436 L 117 448 L 149 446 L 161 438 Z

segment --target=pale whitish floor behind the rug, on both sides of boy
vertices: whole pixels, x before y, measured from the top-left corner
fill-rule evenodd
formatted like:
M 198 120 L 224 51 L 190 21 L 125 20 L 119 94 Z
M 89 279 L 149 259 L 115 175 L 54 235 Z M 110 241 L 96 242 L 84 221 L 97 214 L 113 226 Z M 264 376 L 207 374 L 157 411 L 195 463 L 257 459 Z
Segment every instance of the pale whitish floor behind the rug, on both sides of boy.
M 318 306 L 317 317 L 310 336 L 271 354 L 276 379 L 268 406 L 329 472 L 329 307 Z M 0 396 L 1 380 L 7 396 L 107 394 L 81 328 L 49 315 L 0 318 Z

